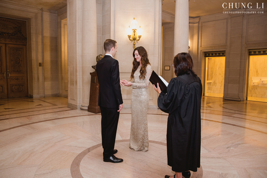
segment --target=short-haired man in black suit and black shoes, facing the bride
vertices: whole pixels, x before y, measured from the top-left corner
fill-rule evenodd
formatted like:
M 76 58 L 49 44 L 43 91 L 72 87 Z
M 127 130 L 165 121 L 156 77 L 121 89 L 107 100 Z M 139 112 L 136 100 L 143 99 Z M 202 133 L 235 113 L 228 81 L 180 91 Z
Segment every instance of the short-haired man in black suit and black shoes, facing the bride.
M 119 62 L 113 59 L 117 52 L 117 42 L 107 39 L 104 42 L 106 52 L 96 64 L 96 74 L 99 81 L 98 106 L 101 111 L 101 134 L 104 162 L 120 163 L 123 159 L 114 156 L 117 126 L 123 100 L 120 91 Z

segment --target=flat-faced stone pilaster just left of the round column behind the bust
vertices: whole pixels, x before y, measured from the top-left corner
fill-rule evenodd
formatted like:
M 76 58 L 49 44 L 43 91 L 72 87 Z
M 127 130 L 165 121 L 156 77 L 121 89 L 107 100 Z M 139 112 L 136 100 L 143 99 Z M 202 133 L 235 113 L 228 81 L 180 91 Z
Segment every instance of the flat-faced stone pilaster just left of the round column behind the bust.
M 68 106 L 79 109 L 82 55 L 82 0 L 67 1 Z

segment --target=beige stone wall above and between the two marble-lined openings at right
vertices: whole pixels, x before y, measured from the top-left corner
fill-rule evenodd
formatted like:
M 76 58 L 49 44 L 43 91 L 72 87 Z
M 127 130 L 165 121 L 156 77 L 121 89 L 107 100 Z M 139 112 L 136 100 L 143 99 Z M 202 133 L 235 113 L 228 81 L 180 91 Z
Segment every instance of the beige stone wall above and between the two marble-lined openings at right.
M 266 9 L 267 6 L 264 6 L 263 14 L 218 13 L 189 18 L 189 53 L 193 58 L 194 71 L 202 83 L 205 77 L 204 52 L 226 52 L 224 99 L 244 101 L 247 97 L 248 50 L 267 48 Z M 171 22 L 170 17 L 165 14 L 165 21 Z M 168 48 L 163 50 L 163 53 L 169 51 Z M 167 75 L 164 77 L 168 78 Z

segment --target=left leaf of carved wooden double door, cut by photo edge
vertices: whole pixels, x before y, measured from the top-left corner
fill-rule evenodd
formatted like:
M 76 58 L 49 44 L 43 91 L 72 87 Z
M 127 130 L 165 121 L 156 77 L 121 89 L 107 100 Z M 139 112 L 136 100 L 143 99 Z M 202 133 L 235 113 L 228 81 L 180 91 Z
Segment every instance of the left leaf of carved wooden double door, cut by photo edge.
M 7 98 L 7 71 L 5 44 L 0 44 L 0 98 Z

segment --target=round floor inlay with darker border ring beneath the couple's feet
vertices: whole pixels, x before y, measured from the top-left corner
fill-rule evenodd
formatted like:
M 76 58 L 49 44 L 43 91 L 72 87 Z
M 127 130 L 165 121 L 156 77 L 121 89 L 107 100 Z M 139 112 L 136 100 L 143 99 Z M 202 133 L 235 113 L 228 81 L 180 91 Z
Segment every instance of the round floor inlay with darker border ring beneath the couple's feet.
M 73 178 L 86 177 L 164 177 L 174 174 L 167 165 L 166 143 L 149 141 L 147 152 L 135 152 L 129 148 L 129 140 L 117 140 L 115 149 L 118 158 L 123 158 L 122 163 L 103 162 L 102 144 L 94 145 L 74 158 L 71 164 Z M 191 178 L 201 178 L 202 167 L 197 172 L 191 172 Z

